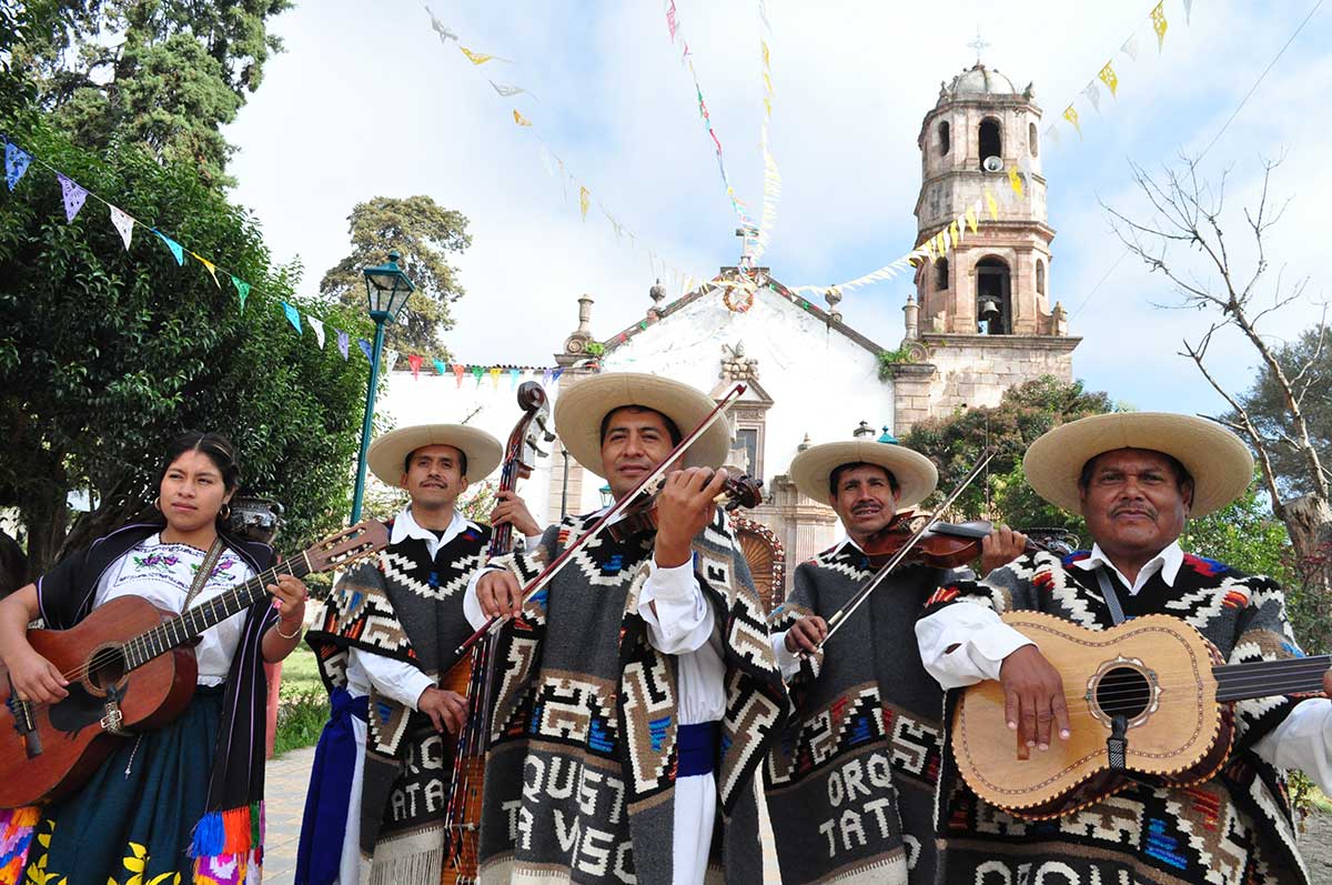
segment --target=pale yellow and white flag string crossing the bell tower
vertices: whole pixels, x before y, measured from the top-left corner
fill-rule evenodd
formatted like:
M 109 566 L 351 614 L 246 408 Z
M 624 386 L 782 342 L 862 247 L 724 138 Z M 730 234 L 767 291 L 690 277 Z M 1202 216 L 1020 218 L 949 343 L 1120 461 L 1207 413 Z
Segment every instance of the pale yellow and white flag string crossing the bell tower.
M 1193 12 L 1193 0 L 1180 0 L 1184 7 L 1184 21 L 1191 23 Z M 1166 0 L 1158 0 L 1156 5 L 1151 8 L 1147 16 L 1135 25 L 1134 31 L 1128 35 L 1128 39 L 1120 45 L 1120 52 L 1127 55 L 1134 61 L 1138 60 L 1138 55 L 1142 48 L 1140 32 L 1143 28 L 1150 27 L 1151 33 L 1156 36 L 1156 51 L 1160 52 L 1166 45 L 1166 32 L 1169 29 L 1169 20 L 1166 17 Z M 1094 111 L 1100 111 L 1100 91 L 1107 89 L 1112 99 L 1119 97 L 1119 73 L 1114 67 L 1114 57 L 1106 61 L 1096 76 L 1083 88 L 1078 96 L 1064 108 L 1060 115 L 1062 120 L 1068 123 L 1076 132 L 1078 139 L 1082 140 L 1082 117 L 1078 113 L 1076 104 L 1079 100 L 1084 100 L 1092 107 Z M 1098 83 L 1100 85 L 1098 85 Z M 1056 120 L 1050 127 L 1046 128 L 1046 141 L 1059 147 L 1062 144 L 1059 136 L 1060 123 Z M 963 237 L 975 235 L 979 231 L 980 223 L 986 215 L 990 220 L 999 220 L 999 200 L 1008 199 L 1022 199 L 1026 185 L 1024 181 L 1030 180 L 1031 176 L 1031 160 L 1030 155 L 1024 151 L 1019 151 L 1019 160 L 1016 164 L 1007 168 L 1008 187 L 999 188 L 998 193 L 990 187 L 986 187 L 984 193 L 966 208 L 955 220 L 952 220 L 947 228 L 939 231 L 932 237 L 926 239 L 919 243 L 916 248 L 911 252 L 903 255 L 902 257 L 871 271 L 864 276 L 856 277 L 854 280 L 847 280 L 846 283 L 838 283 L 832 287 L 826 285 L 802 285 L 795 287 L 793 292 L 823 292 L 827 289 L 836 289 L 838 292 L 847 292 L 851 289 L 859 289 L 874 283 L 882 283 L 884 280 L 891 280 L 899 273 L 914 272 L 915 267 L 926 260 L 935 260 L 944 257 L 958 243 L 962 243 Z

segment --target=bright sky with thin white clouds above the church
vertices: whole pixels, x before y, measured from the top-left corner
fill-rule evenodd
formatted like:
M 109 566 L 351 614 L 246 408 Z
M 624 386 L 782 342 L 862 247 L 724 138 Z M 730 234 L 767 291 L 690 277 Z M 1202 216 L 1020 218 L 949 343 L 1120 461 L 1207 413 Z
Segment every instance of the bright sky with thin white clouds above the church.
M 1181 153 L 1205 151 L 1200 175 L 1213 185 L 1225 176 L 1219 220 L 1247 279 L 1256 252 L 1243 211 L 1260 196 L 1264 160 L 1281 159 L 1269 193 L 1285 211 L 1267 243 L 1256 309 L 1272 304 L 1279 275 L 1287 293 L 1307 285 L 1259 331 L 1280 344 L 1321 316 L 1321 220 L 1332 197 L 1332 55 L 1317 49 L 1332 44 L 1332 5 L 1321 0 L 1195 0 L 1188 20 L 1183 0 L 1166 0 L 1159 52 L 1146 1 L 767 0 L 769 32 L 757 0 L 675 0 L 674 44 L 658 0 L 429 5 L 458 41 L 441 40 L 425 7 L 406 0 L 306 0 L 272 20 L 286 51 L 265 65 L 225 135 L 238 147 L 233 197 L 252 211 L 276 261 L 304 265 L 309 293 L 348 253 L 354 204 L 425 193 L 466 215 L 473 244 L 452 261 L 466 295 L 445 335 L 460 361 L 549 365 L 577 324 L 581 295 L 594 300 L 591 328 L 605 339 L 642 319 L 657 276 L 674 297 L 675 272 L 702 279 L 735 263 L 737 220 L 679 61 L 682 40 L 731 184 L 755 217 L 759 37 L 769 43 L 769 144 L 782 196 L 762 263 L 789 287 L 851 280 L 911 249 L 920 123 L 940 81 L 975 61 L 968 44 L 979 29 L 988 44 L 982 60 L 1019 88 L 1034 84 L 1042 129 L 1107 60 L 1119 77 L 1118 99 L 1102 92 L 1099 112 L 1078 99 L 1082 139 L 1060 124 L 1059 144 L 1042 145 L 1056 231 L 1048 292 L 1083 339 L 1074 375 L 1088 388 L 1138 409 L 1225 409 L 1179 356 L 1213 315 L 1180 309 L 1168 280 L 1126 256 L 1102 205 L 1151 219 L 1132 164 L 1159 175 L 1179 168 Z M 1136 60 L 1120 49 L 1131 33 Z M 473 65 L 460 45 L 503 61 Z M 531 95 L 502 97 L 488 79 Z M 533 125 L 515 125 L 514 109 Z M 543 144 L 589 188 L 586 220 L 577 188 L 546 171 Z M 633 244 L 601 207 L 634 232 Z M 1217 285 L 1196 252 L 1176 245 L 1168 257 Z M 839 309 L 892 348 L 910 291 L 908 277 L 898 277 L 847 292 Z M 1232 392 L 1252 383 L 1256 360 L 1235 333 L 1217 335 L 1208 352 L 1208 368 Z

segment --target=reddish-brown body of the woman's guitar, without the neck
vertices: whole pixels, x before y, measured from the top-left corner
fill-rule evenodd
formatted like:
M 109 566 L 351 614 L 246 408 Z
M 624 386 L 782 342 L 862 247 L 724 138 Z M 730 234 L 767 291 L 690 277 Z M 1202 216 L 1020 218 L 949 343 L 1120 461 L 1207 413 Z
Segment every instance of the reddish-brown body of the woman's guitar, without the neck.
M 148 600 L 123 596 L 72 629 L 28 630 L 32 648 L 67 674 L 69 697 L 20 704 L 0 664 L 0 808 L 65 796 L 132 732 L 161 728 L 185 710 L 198 670 L 193 648 L 172 649 L 135 669 L 120 653 L 123 644 L 173 617 Z M 29 748 L 41 752 L 29 758 Z

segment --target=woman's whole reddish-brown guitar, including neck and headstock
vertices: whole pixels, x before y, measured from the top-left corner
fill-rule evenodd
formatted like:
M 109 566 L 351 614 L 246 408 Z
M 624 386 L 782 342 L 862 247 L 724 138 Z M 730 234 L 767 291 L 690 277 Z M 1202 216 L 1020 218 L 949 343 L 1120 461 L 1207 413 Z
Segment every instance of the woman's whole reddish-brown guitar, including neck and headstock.
M 180 716 L 198 673 L 193 640 L 266 597 L 278 574 L 342 568 L 388 542 L 382 522 L 358 522 L 182 614 L 123 596 L 68 630 L 28 630 L 32 648 L 69 680 L 69 696 L 20 701 L 0 665 L 0 808 L 67 796 L 120 741 Z

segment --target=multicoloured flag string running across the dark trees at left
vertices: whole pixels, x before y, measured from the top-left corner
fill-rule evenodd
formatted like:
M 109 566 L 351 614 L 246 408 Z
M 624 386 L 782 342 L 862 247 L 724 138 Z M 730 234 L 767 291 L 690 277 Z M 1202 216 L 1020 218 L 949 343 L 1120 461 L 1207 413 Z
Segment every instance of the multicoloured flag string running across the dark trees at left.
M 236 296 L 240 304 L 240 312 L 241 313 L 245 312 L 245 303 L 254 291 L 254 288 L 249 283 L 240 279 L 234 273 L 230 273 L 229 271 L 218 265 L 216 261 L 204 257 L 202 255 L 194 252 L 193 249 L 186 248 L 184 244 L 181 244 L 178 240 L 176 240 L 166 232 L 161 231 L 160 228 L 144 224 L 135 216 L 129 215 L 128 212 L 117 207 L 115 203 L 111 203 L 101 195 L 79 184 L 75 179 L 72 179 L 71 176 L 65 175 L 60 169 L 55 168 L 53 165 L 43 160 L 33 151 L 21 147 L 13 139 L 4 135 L 0 135 L 0 139 L 3 139 L 4 141 L 4 177 L 5 177 L 5 184 L 8 185 L 11 193 L 15 192 L 15 189 L 19 187 L 19 183 L 24 180 L 28 171 L 33 165 L 47 169 L 55 176 L 56 181 L 60 184 L 61 203 L 64 205 L 64 212 L 65 212 L 65 224 L 72 224 L 75 219 L 84 211 L 88 199 L 92 197 L 95 201 L 101 203 L 103 205 L 107 207 L 111 224 L 120 235 L 120 240 L 124 244 L 127 252 L 129 251 L 131 244 L 133 241 L 135 228 L 136 227 L 144 228 L 155 237 L 157 237 L 157 240 L 170 252 L 172 257 L 176 260 L 176 264 L 178 267 L 184 267 L 185 256 L 188 255 L 194 261 L 197 261 L 205 271 L 208 271 L 209 277 L 213 280 L 213 284 L 217 285 L 218 289 L 221 288 L 221 280 L 218 275 L 229 279 L 236 289 Z M 338 355 L 342 357 L 342 360 L 345 361 L 350 359 L 352 335 L 349 332 L 345 332 L 344 329 L 338 328 L 326 327 L 324 320 L 312 316 L 310 313 L 302 313 L 300 309 L 297 309 L 294 305 L 289 304 L 285 300 L 278 299 L 277 305 L 278 308 L 281 308 L 285 321 L 292 325 L 292 328 L 296 331 L 297 335 L 304 336 L 305 329 L 309 329 L 314 337 L 316 345 L 321 351 L 325 348 L 325 343 L 329 340 L 329 337 L 332 337 L 333 341 L 336 343 Z M 329 332 L 332 332 L 333 335 L 329 336 Z M 370 343 L 365 339 L 358 337 L 356 339 L 356 344 L 360 348 L 361 353 L 365 355 L 365 359 L 370 360 L 373 355 L 373 348 Z M 522 377 L 523 375 L 533 375 L 533 376 L 539 375 L 546 387 L 550 387 L 553 384 L 558 384 L 559 376 L 563 373 L 562 367 L 474 365 L 466 363 L 445 363 L 437 359 L 428 360 L 426 357 L 422 357 L 417 353 L 404 355 L 393 349 L 385 349 L 382 352 L 385 369 L 388 372 L 393 372 L 398 360 L 404 356 L 406 357 L 408 367 L 410 368 L 413 377 L 420 377 L 421 369 L 426 368 L 426 364 L 429 363 L 430 364 L 429 368 L 433 368 L 437 376 L 453 375 L 453 377 L 457 380 L 457 387 L 462 387 L 462 381 L 469 377 L 473 379 L 477 385 L 480 385 L 484 379 L 490 379 L 492 384 L 498 387 L 501 380 L 507 379 L 510 387 L 517 387 L 518 379 Z

